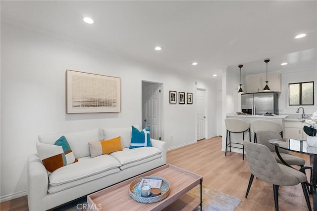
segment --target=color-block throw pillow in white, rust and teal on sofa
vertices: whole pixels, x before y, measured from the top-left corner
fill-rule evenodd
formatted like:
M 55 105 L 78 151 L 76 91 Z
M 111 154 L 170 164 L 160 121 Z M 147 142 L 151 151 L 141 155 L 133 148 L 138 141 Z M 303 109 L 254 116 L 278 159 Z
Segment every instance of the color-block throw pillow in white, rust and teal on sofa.
M 44 167 L 49 172 L 77 162 L 64 136 L 57 139 L 54 144 L 36 143 L 36 148 Z

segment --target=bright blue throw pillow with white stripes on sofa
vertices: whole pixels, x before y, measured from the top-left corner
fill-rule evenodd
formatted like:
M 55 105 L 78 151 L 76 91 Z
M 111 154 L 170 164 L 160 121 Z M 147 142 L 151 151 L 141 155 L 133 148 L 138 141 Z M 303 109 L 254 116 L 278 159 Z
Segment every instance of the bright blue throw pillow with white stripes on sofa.
M 152 147 L 149 126 L 141 131 L 132 126 L 131 143 L 129 149 L 138 147 Z

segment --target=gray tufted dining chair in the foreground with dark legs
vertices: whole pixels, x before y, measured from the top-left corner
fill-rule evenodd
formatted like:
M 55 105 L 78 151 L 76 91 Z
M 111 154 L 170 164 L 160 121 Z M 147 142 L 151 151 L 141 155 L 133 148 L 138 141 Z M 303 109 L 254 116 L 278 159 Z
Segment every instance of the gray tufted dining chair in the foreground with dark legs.
M 267 183 L 273 184 L 275 211 L 278 211 L 279 186 L 294 186 L 301 183 L 307 207 L 309 211 L 312 210 L 306 189 L 307 177 L 304 173 L 278 164 L 269 149 L 262 144 L 252 143 L 246 140 L 243 141 L 243 144 L 251 171 L 246 198 L 248 197 L 253 178 L 256 176 Z

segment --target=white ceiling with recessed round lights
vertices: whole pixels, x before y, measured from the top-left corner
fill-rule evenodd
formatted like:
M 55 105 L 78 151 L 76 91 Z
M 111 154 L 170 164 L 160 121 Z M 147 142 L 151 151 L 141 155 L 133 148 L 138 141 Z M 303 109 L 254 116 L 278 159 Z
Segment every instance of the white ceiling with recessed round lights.
M 199 77 L 317 68 L 317 1 L 3 1 L 1 23 Z M 89 25 L 83 16 L 96 20 Z M 295 40 L 300 33 L 305 38 Z M 154 50 L 161 46 L 161 51 Z M 191 65 L 192 62 L 198 65 Z M 288 62 L 289 65 L 280 66 Z

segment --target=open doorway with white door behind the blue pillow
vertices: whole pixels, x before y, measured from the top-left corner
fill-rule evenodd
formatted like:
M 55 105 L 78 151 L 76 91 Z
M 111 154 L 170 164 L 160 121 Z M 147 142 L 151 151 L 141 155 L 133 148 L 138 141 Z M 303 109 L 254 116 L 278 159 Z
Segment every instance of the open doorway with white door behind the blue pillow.
M 142 128 L 150 126 L 151 138 L 163 140 L 163 84 L 142 81 Z

